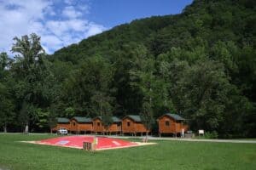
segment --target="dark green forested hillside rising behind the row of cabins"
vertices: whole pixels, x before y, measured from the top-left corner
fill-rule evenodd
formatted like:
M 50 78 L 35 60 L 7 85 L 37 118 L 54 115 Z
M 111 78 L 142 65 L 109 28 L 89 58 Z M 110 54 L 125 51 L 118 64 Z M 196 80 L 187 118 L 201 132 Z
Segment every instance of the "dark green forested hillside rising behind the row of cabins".
M 182 14 L 134 20 L 53 55 L 26 50 L 1 54 L 0 124 L 9 130 L 140 114 L 156 131 L 153 120 L 173 112 L 192 130 L 256 137 L 253 0 L 195 0 Z

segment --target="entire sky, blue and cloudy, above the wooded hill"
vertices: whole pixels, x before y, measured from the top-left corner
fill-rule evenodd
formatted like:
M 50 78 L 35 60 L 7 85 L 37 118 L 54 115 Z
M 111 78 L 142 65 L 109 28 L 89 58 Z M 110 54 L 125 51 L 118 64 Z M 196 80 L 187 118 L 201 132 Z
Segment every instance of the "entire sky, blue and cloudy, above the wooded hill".
M 15 36 L 37 33 L 48 54 L 113 26 L 178 14 L 192 0 L 0 0 L 0 52 Z

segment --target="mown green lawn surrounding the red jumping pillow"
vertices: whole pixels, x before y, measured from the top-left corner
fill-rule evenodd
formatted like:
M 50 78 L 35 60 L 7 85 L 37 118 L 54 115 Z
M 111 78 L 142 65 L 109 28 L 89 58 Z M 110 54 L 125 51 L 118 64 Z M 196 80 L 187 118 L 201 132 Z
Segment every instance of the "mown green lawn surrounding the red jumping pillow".
M 0 169 L 256 169 L 256 144 L 154 141 L 158 144 L 89 153 L 19 142 L 50 137 L 0 134 Z

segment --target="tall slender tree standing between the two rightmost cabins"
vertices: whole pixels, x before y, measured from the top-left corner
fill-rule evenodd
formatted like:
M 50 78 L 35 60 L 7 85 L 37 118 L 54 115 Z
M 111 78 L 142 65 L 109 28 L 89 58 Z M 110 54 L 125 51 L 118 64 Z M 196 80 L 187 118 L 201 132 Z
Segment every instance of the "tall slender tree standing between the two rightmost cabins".
M 157 79 L 154 76 L 154 59 L 148 56 L 147 48 L 138 46 L 135 50 L 137 53 L 134 57 L 133 68 L 131 74 L 131 86 L 139 88 L 143 94 L 143 105 L 140 115 L 143 123 L 147 128 L 146 140 L 148 139 L 148 131 L 152 128 L 154 123 L 154 99 L 156 99 L 155 88 Z

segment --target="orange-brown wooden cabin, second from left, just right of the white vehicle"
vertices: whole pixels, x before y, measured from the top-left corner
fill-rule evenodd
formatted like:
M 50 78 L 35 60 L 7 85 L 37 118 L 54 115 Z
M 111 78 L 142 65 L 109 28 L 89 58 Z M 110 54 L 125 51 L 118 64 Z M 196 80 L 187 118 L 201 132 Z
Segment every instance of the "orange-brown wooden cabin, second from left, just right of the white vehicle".
M 70 119 L 70 132 L 72 133 L 92 133 L 92 120 L 89 117 L 74 116 Z

